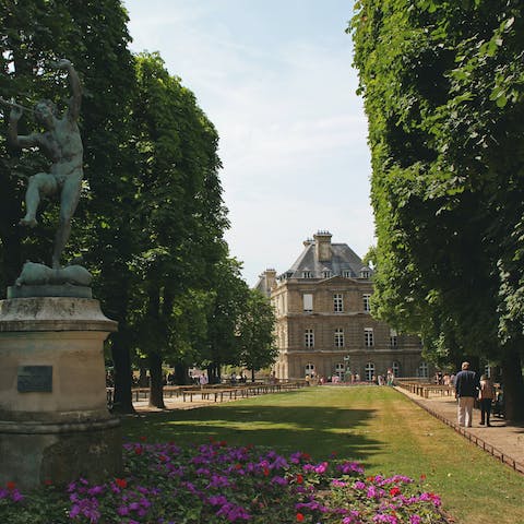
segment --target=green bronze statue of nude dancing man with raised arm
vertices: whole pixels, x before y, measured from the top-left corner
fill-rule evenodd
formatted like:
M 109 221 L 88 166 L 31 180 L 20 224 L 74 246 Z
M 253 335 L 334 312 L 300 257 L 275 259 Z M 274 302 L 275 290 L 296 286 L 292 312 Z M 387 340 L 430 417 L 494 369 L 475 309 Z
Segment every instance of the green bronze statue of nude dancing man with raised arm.
M 17 134 L 17 123 L 23 109 L 12 104 L 9 140 L 19 147 L 39 147 L 50 160 L 49 172 L 38 172 L 29 178 L 25 193 L 25 216 L 20 221 L 23 226 L 36 226 L 36 212 L 41 196 L 60 194 L 60 223 L 55 237 L 52 267 L 60 267 L 60 257 L 71 234 L 71 219 L 79 203 L 82 187 L 83 145 L 78 120 L 82 102 L 82 86 L 79 75 L 69 60 L 62 59 L 51 67 L 68 71 L 72 97 L 62 116 L 56 114 L 55 104 L 40 100 L 36 104 L 34 115 L 45 132 L 28 135 Z

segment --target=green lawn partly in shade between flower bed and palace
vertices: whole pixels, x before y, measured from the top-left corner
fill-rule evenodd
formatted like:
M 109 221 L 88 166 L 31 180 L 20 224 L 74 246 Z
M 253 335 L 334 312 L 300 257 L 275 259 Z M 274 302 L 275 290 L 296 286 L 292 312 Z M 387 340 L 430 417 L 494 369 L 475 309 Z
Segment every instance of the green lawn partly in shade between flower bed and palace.
M 390 388 L 307 388 L 199 409 L 123 420 L 127 440 L 204 442 L 336 452 L 367 473 L 398 473 L 442 496 L 462 524 L 524 524 L 524 476 L 496 461 Z

